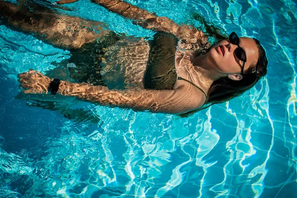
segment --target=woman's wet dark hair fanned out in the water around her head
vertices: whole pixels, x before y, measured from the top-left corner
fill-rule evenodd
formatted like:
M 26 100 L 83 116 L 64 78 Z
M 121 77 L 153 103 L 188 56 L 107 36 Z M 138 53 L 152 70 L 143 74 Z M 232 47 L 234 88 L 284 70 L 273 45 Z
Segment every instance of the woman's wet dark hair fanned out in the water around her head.
M 224 36 L 224 33 L 222 34 L 223 31 L 220 28 L 214 26 L 213 24 L 207 24 L 203 16 L 196 15 L 196 19 L 204 23 L 206 31 L 210 31 L 206 32 L 206 35 L 215 38 L 217 42 L 227 39 L 227 37 Z M 212 104 L 226 102 L 230 99 L 233 99 L 234 97 L 238 97 L 252 88 L 261 79 L 261 77 L 266 75 L 268 64 L 266 52 L 257 39 L 253 38 L 253 40 L 255 41 L 258 48 L 258 61 L 255 64 L 249 66 L 247 71 L 243 74 L 243 79 L 235 81 L 229 79 L 228 77 L 222 77 L 218 80 L 215 80 L 209 88 L 204 105 L 198 110 L 181 114 L 181 117 L 189 116 L 199 110 L 208 108 Z M 209 51 L 210 48 L 207 51 Z

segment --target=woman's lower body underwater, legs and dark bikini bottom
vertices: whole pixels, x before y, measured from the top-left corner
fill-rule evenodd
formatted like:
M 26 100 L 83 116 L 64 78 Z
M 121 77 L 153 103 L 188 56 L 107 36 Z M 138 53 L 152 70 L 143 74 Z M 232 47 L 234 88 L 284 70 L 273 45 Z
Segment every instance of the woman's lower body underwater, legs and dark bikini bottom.
M 98 56 L 103 47 L 113 45 L 119 36 L 108 30 L 104 23 L 56 14 L 47 6 L 31 0 L 18 1 L 20 4 L 0 0 L 2 23 L 14 30 L 33 34 L 54 47 L 70 50 L 70 59 L 57 63 L 56 68 L 47 71 L 49 77 L 102 84 L 97 71 Z M 68 67 L 67 62 L 74 63 L 75 68 L 72 65 Z

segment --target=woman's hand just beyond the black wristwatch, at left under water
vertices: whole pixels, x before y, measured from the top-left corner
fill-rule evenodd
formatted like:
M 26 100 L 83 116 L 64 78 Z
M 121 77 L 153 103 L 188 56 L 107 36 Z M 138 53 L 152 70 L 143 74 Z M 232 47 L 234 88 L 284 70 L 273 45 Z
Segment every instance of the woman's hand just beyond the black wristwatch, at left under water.
M 18 75 L 22 92 L 25 94 L 47 94 L 51 79 L 42 73 L 30 69 Z

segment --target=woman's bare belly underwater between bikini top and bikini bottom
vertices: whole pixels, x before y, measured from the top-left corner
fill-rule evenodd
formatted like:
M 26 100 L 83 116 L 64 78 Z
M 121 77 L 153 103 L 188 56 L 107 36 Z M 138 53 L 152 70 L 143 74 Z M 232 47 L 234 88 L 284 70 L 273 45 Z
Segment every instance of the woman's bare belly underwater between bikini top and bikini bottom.
M 109 89 L 144 88 L 149 45 L 143 38 L 126 37 L 105 52 L 102 77 Z

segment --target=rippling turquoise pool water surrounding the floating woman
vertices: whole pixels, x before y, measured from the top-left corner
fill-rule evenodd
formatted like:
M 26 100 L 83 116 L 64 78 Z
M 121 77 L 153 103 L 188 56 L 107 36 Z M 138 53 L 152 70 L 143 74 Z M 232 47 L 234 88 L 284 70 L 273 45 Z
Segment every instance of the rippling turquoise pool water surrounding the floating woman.
M 257 38 L 267 76 L 188 118 L 73 98 L 49 110 L 16 98 L 17 74 L 53 69 L 68 51 L 0 25 L 0 197 L 296 197 L 296 2 L 127 1 L 178 23 L 197 24 L 190 16 L 200 12 L 227 33 Z M 117 32 L 153 35 L 89 0 L 64 7 Z

